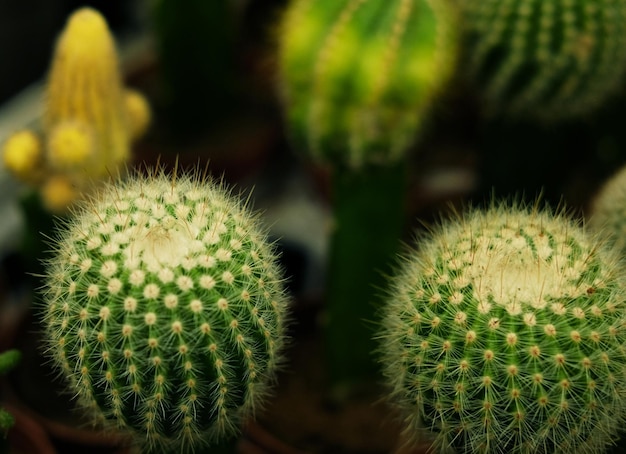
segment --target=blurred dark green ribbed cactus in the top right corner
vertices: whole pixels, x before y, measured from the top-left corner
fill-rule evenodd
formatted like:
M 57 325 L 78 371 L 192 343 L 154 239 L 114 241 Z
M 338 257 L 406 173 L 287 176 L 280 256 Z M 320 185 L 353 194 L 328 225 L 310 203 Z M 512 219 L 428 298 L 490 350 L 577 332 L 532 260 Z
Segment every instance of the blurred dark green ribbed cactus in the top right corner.
M 623 81 L 624 0 L 461 3 L 467 64 L 492 113 L 588 114 Z

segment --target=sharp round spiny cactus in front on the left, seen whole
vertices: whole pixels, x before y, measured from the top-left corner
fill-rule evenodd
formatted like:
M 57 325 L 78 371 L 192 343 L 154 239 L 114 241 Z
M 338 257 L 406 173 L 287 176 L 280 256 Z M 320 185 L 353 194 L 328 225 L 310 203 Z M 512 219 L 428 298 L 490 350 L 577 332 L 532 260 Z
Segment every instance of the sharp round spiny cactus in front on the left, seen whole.
M 147 448 L 232 435 L 262 403 L 285 336 L 281 269 L 258 218 L 210 180 L 163 172 L 80 207 L 53 242 L 43 308 L 71 392 Z

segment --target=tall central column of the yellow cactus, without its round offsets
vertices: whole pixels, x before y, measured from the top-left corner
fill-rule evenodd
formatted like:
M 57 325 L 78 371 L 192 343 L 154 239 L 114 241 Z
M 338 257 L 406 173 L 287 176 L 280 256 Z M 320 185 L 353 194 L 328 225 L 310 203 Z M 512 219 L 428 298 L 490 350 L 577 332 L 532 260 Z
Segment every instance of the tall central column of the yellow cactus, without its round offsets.
M 127 116 L 113 37 L 97 11 L 83 8 L 72 14 L 57 42 L 46 87 L 44 129 L 74 123 L 76 130 L 88 131 L 92 146 L 89 153 L 79 153 L 79 164 L 101 177 L 129 157 Z M 63 154 L 54 148 L 50 152 Z

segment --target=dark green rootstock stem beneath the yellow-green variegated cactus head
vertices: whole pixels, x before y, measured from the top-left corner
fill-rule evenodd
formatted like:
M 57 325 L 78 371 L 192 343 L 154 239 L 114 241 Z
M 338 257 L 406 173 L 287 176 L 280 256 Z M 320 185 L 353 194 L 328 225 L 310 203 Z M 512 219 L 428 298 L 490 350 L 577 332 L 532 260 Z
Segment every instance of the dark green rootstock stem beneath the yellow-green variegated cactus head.
M 326 342 L 331 384 L 371 381 L 381 288 L 405 227 L 404 162 L 333 175 Z

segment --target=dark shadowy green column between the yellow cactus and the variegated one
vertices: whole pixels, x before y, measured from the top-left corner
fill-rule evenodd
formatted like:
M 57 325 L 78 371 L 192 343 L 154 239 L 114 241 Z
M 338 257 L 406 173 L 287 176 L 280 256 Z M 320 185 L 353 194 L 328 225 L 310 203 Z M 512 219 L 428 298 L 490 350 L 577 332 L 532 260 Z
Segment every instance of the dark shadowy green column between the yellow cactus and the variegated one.
M 151 4 L 164 115 L 176 142 L 206 133 L 237 102 L 235 2 Z

